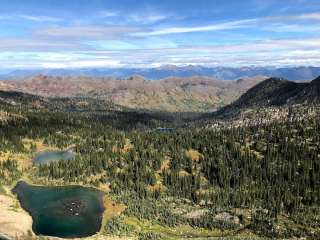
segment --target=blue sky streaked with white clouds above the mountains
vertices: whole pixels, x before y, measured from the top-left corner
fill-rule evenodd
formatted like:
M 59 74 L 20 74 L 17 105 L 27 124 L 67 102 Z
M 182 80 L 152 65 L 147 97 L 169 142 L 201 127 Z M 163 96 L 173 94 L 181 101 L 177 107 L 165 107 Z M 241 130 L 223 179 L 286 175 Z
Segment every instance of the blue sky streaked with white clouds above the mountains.
M 319 0 L 1 0 L 0 71 L 320 66 Z

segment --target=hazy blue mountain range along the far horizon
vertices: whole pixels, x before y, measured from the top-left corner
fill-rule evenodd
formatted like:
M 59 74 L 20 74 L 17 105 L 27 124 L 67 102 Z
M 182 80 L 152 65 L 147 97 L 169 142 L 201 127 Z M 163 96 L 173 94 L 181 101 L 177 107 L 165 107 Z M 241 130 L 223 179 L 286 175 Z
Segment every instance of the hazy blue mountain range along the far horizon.
M 0 74 L 0 79 L 25 78 L 38 74 L 50 76 L 88 76 L 128 78 L 140 75 L 146 79 L 159 80 L 168 77 L 206 76 L 221 80 L 236 80 L 257 75 L 280 77 L 289 80 L 311 80 L 320 75 L 320 67 L 204 67 L 166 65 L 157 68 L 79 68 L 15 70 Z

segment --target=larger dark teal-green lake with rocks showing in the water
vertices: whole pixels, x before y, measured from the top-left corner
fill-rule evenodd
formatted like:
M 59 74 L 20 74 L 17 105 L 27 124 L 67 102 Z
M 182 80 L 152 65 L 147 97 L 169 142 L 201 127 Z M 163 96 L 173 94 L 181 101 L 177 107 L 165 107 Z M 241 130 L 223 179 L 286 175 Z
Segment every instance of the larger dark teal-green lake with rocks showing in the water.
M 97 189 L 33 186 L 20 181 L 12 191 L 32 216 L 36 235 L 87 237 L 101 228 L 104 193 Z

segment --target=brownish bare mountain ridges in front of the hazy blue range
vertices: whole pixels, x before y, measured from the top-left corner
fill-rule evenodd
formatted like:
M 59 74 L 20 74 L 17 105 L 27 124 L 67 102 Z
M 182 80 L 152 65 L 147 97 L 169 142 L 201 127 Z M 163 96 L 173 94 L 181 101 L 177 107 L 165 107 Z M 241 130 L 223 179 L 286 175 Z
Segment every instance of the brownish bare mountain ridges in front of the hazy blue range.
M 0 82 L 0 90 L 20 91 L 44 97 L 95 98 L 133 109 L 159 111 L 215 111 L 236 100 L 264 76 L 239 80 L 209 77 L 170 77 L 158 81 L 132 76 L 118 80 L 111 77 L 54 77 L 36 75 Z

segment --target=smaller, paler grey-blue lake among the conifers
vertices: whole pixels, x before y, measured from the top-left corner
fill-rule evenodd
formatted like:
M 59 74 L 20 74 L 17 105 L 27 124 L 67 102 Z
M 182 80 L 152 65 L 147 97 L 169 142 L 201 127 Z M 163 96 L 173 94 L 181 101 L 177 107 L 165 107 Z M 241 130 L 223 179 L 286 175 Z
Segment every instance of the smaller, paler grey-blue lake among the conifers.
M 35 164 L 46 164 L 50 162 L 55 162 L 59 160 L 72 160 L 76 154 L 72 151 L 46 151 L 46 152 L 41 152 L 39 153 L 35 158 L 34 158 L 34 163 Z

